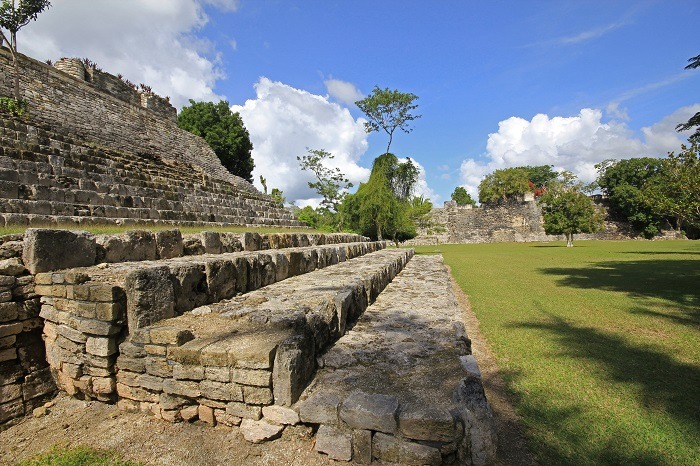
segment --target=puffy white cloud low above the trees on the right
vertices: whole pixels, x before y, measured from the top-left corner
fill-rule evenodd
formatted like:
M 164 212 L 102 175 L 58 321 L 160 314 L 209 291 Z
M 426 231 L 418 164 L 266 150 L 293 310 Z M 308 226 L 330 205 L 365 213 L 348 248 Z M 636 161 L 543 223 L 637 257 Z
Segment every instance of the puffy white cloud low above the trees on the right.
M 642 128 L 643 140 L 620 121 L 602 121 L 602 111 L 584 108 L 572 117 L 535 115 L 528 121 L 510 117 L 489 134 L 482 160 L 462 162 L 462 185 L 476 199 L 478 186 L 494 170 L 523 165 L 552 165 L 568 170 L 585 182 L 597 175 L 594 165 L 605 159 L 661 157 L 678 150 L 688 134 L 676 125 L 700 111 L 700 104 L 683 107 L 658 123 Z

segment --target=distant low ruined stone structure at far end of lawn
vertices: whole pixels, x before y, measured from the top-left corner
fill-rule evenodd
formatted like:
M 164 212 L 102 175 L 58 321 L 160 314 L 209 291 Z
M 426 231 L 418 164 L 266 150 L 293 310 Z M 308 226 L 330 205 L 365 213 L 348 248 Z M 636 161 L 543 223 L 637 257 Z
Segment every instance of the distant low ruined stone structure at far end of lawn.
M 544 232 L 542 210 L 534 198 L 512 201 L 498 206 L 474 208 L 453 201 L 430 213 L 430 228 L 419 230 L 418 237 L 407 241 L 415 244 L 462 244 L 557 241 L 563 236 Z M 607 220 L 605 228 L 595 234 L 577 234 L 576 239 L 630 239 L 629 225 Z

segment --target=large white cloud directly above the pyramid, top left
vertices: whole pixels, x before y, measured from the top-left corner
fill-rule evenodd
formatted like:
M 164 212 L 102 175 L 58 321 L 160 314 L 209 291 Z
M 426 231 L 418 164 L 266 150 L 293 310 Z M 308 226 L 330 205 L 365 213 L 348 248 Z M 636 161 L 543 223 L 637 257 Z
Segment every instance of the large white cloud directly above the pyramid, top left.
M 195 36 L 208 21 L 204 5 L 235 11 L 237 0 L 63 0 L 21 32 L 20 51 L 38 60 L 87 57 L 107 72 L 144 83 L 176 107 L 219 100 L 225 77 L 213 44 Z

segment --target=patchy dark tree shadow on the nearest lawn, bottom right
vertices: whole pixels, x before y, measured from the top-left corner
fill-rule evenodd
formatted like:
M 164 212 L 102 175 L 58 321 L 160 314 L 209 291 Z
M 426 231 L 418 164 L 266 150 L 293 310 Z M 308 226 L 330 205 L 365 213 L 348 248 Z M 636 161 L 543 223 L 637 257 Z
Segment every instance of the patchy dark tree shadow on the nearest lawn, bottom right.
M 632 385 L 627 393 L 637 398 L 645 411 L 668 413 L 682 424 L 688 442 L 700 438 L 700 369 L 683 364 L 667 354 L 645 346 L 634 345 L 624 338 L 601 332 L 595 328 L 579 327 L 565 320 L 550 316 L 542 323 L 521 323 L 514 328 L 544 331 L 552 335 L 564 348 L 564 355 L 571 359 L 586 360 L 602 370 L 602 378 L 611 383 Z M 517 374 L 505 376 L 509 383 Z M 631 434 L 620 427 L 612 440 L 601 445 L 588 442 L 586 432 L 585 400 L 581 408 L 557 408 L 549 400 L 520 399 L 518 404 L 526 418 L 539 419 L 546 423 L 546 429 L 554 432 L 555 442 L 537 445 L 535 451 L 542 451 L 546 457 L 540 459 L 556 461 L 557 464 L 671 464 L 660 453 L 661 445 L 655 449 L 639 445 Z M 614 426 L 604 426 L 615 429 Z M 675 434 L 678 436 L 678 433 Z M 583 455 L 583 456 L 581 456 Z

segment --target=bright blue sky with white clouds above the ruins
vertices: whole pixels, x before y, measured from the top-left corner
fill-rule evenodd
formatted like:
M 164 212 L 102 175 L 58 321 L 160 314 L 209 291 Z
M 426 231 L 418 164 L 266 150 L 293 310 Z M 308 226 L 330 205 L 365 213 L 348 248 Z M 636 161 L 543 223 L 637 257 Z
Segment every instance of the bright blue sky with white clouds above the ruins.
M 423 167 L 419 193 L 437 204 L 506 166 L 591 181 L 603 159 L 662 156 L 700 111 L 700 70 L 683 70 L 700 54 L 697 1 L 52 3 L 20 49 L 88 56 L 177 105 L 226 98 L 256 179 L 300 205 L 314 197 L 296 166 L 306 147 L 336 154 L 355 183 L 385 149 L 352 104 L 375 85 L 419 96 L 422 118 L 392 152 Z

